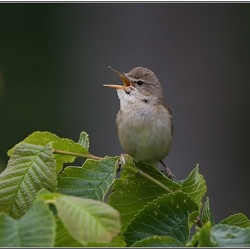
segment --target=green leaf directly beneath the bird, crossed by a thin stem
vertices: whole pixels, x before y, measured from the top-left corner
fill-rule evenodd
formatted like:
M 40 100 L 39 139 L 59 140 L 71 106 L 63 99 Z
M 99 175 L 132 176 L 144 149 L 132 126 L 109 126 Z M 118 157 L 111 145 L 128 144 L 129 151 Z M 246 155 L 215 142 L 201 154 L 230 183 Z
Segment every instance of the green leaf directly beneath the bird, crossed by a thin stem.
M 124 164 L 122 166 L 121 177 L 115 180 L 113 186 L 114 191 L 109 197 L 109 204 L 119 211 L 122 231 L 125 231 L 128 223 L 144 205 L 166 194 L 166 191 L 140 174 L 133 174 L 127 170 L 127 167 L 134 167 L 133 159 L 128 155 L 121 157 L 120 161 Z M 136 163 L 136 167 L 172 190 L 180 188 L 178 183 L 170 181 L 158 169 L 151 165 Z

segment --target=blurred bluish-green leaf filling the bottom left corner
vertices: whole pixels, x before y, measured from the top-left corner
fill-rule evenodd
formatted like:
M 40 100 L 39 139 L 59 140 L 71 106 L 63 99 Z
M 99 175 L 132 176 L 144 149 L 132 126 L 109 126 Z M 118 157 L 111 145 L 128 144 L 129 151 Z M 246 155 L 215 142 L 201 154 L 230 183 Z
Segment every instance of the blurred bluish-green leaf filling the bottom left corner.
M 1 247 L 53 247 L 56 224 L 47 204 L 35 202 L 20 219 L 0 213 Z

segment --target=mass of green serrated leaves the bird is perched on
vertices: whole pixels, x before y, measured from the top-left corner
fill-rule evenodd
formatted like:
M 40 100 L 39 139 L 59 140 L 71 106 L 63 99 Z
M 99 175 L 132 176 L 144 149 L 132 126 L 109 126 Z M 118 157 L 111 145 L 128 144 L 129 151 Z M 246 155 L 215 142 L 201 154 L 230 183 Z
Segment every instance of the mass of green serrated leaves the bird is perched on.
M 77 143 L 35 132 L 8 155 L 1 247 L 250 246 L 245 215 L 215 223 L 198 165 L 186 179 L 169 180 L 129 155 L 90 154 L 85 132 Z M 76 158 L 87 160 L 75 166 Z

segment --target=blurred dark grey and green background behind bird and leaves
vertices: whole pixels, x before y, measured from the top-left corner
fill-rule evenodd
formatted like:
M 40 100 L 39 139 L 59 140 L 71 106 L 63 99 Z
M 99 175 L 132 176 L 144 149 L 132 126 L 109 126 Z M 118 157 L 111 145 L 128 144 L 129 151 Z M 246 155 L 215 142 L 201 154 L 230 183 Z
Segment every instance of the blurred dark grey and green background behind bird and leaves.
M 215 219 L 250 217 L 250 6 L 247 3 L 0 4 L 0 165 L 34 131 L 119 155 L 118 83 L 108 65 L 153 70 L 174 115 L 165 163 L 200 164 Z

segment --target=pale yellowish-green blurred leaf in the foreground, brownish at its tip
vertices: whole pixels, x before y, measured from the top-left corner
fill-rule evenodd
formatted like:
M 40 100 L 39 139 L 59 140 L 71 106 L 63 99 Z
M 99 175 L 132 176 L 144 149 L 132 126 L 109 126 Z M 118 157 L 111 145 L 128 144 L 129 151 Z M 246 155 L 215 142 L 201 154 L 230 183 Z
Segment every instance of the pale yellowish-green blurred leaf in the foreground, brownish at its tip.
M 120 232 L 118 212 L 105 203 L 56 194 L 55 205 L 65 228 L 83 245 L 109 243 Z

